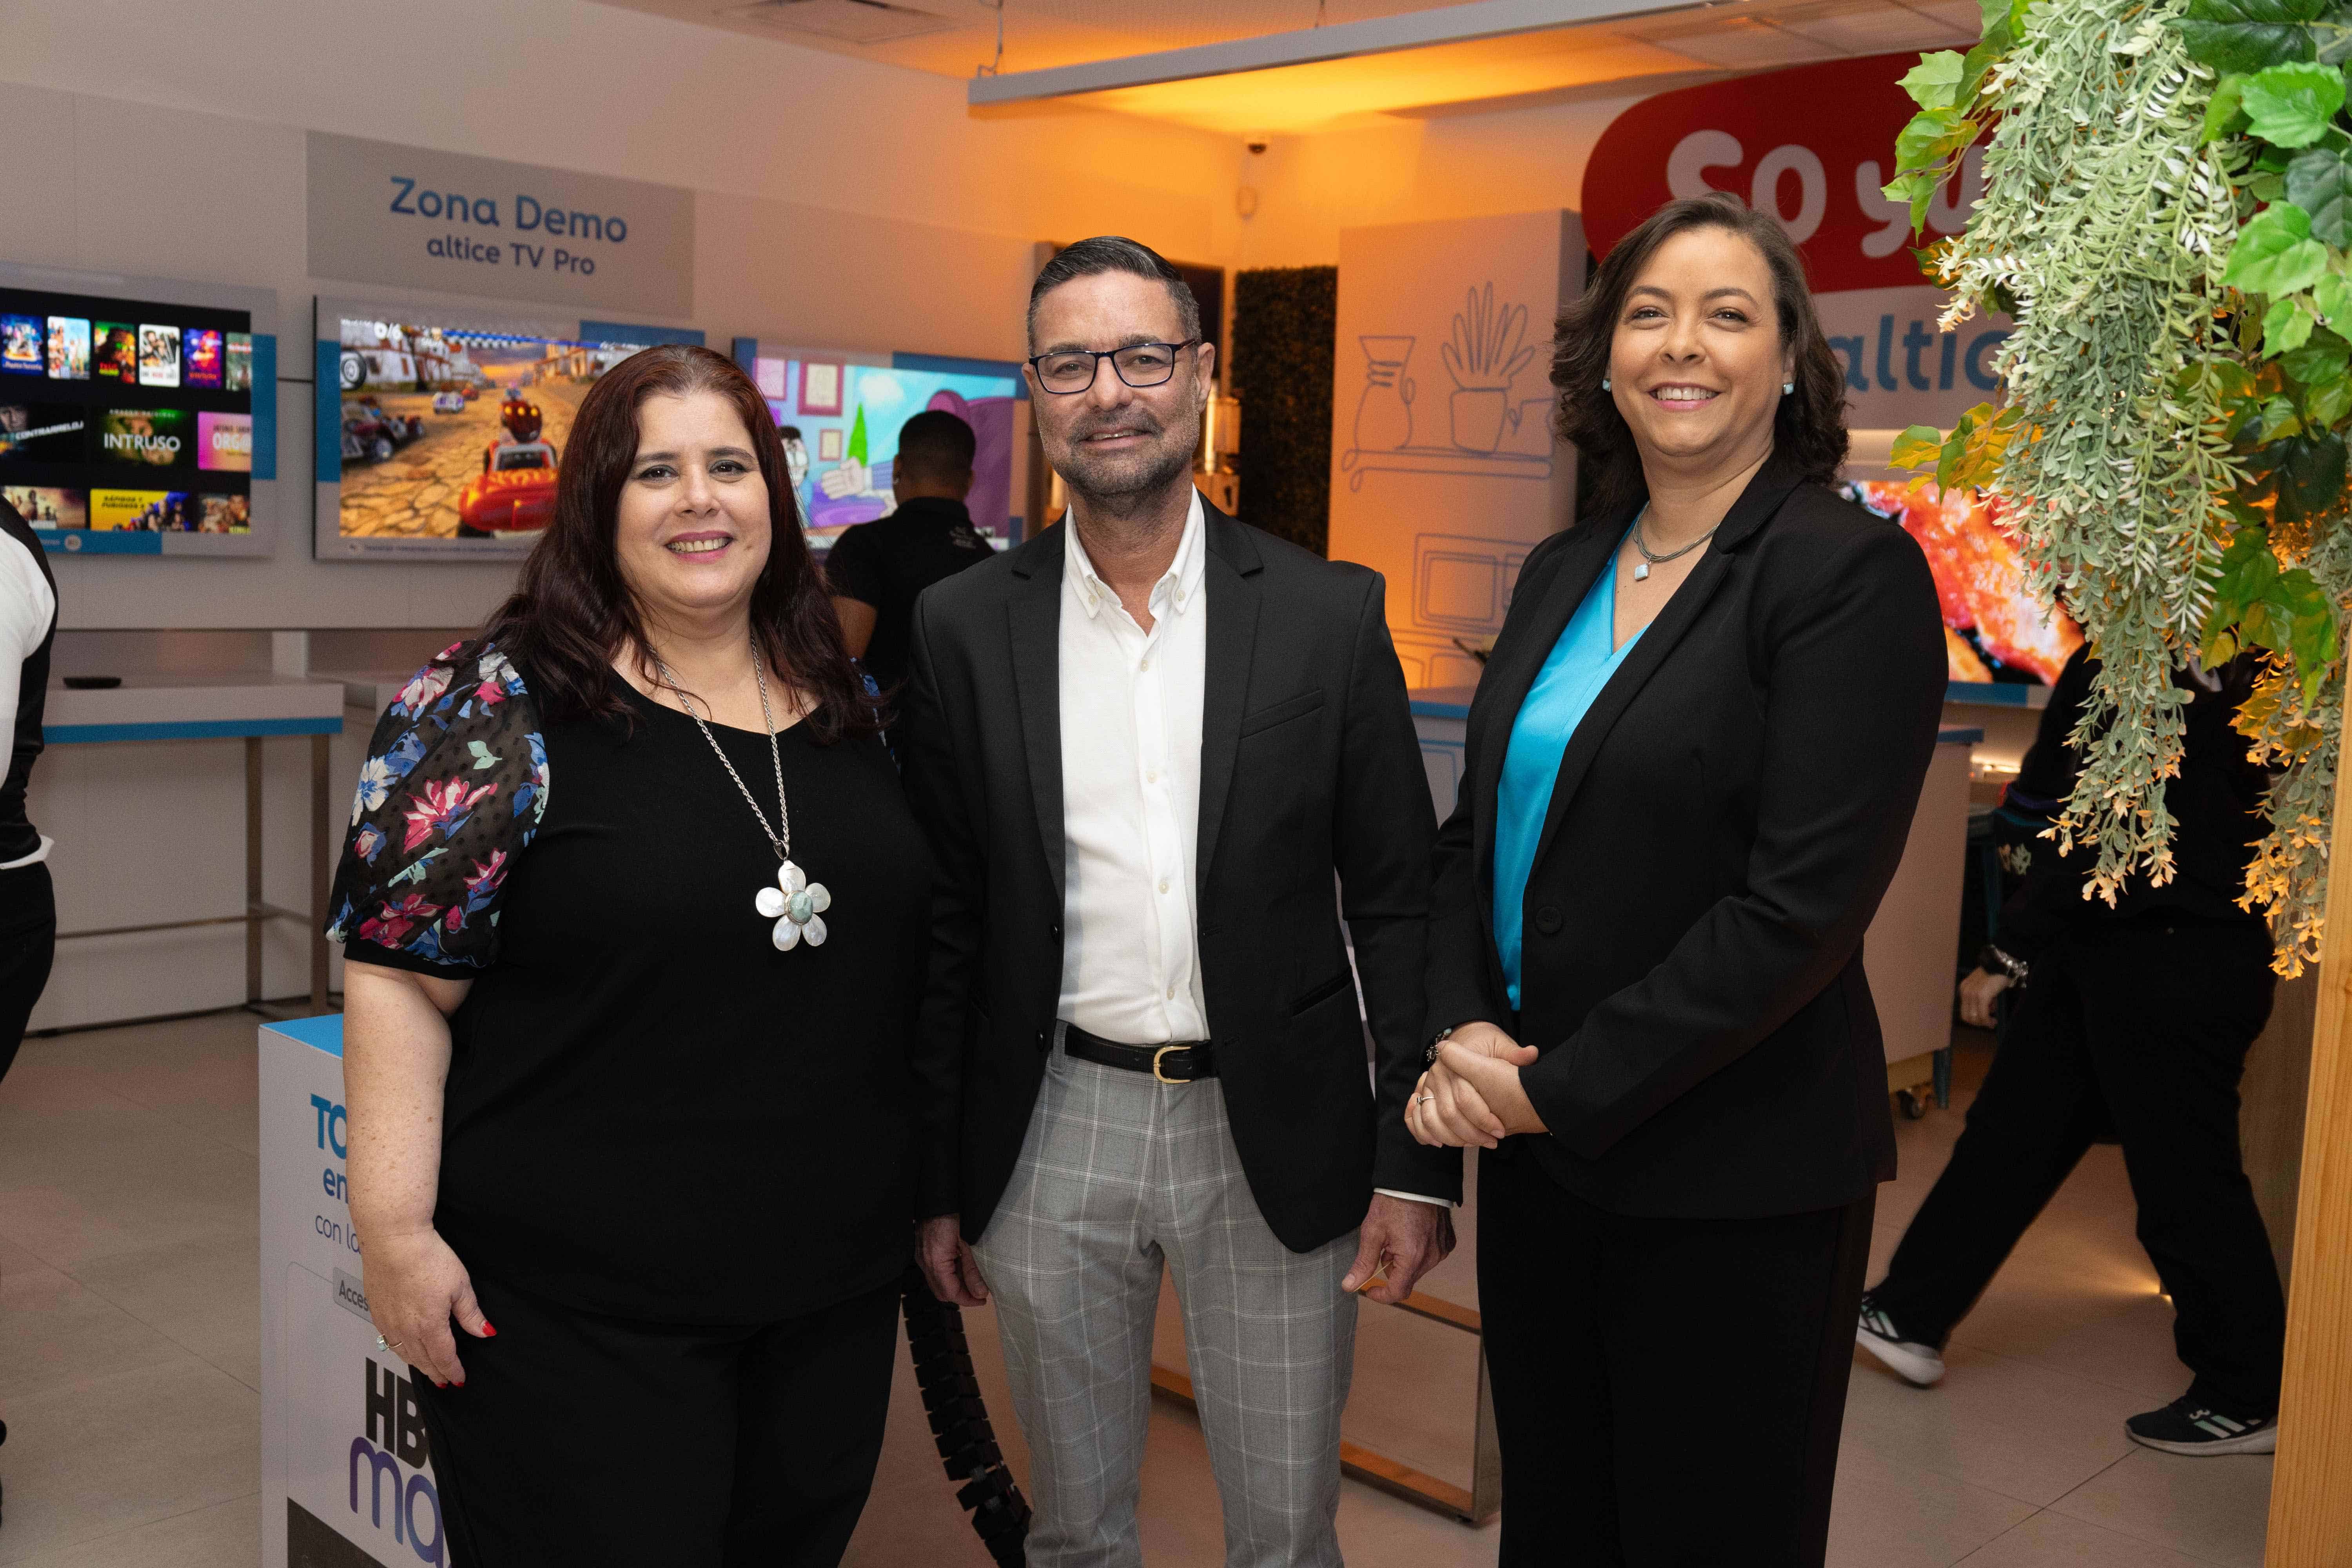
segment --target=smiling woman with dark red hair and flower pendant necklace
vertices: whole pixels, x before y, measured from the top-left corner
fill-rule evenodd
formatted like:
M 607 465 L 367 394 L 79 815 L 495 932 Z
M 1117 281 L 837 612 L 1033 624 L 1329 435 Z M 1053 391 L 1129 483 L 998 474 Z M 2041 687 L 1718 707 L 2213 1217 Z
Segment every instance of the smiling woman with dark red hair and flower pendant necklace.
M 929 858 L 743 371 L 621 362 L 557 484 L 353 799 L 369 1309 L 468 1568 L 835 1563 L 889 1401 Z

